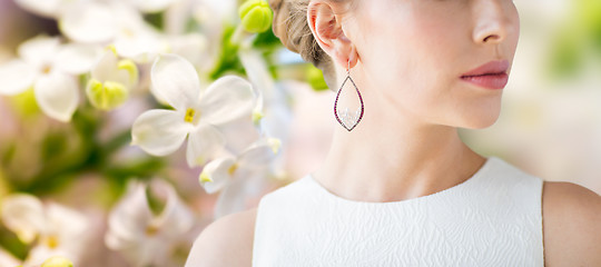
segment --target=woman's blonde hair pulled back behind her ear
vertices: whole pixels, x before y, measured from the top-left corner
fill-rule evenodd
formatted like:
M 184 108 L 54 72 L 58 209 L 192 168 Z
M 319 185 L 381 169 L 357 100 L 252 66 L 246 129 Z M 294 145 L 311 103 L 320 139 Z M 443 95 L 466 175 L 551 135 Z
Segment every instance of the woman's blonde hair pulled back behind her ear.
M 344 2 L 344 0 L 328 0 Z M 273 30 L 290 51 L 299 53 L 307 62 L 324 72 L 326 85 L 334 89 L 336 73 L 332 58 L 319 47 L 307 22 L 311 0 L 269 0 L 274 10 Z

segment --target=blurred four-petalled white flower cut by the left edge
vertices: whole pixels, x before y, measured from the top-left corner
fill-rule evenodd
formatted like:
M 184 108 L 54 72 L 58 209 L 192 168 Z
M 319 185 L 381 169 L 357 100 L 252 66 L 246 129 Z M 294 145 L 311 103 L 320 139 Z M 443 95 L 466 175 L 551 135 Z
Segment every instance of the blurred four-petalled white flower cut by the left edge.
M 19 46 L 20 59 L 0 66 L 0 95 L 17 95 L 31 86 L 41 110 L 60 121 L 69 121 L 79 101 L 72 75 L 88 71 L 96 61 L 97 47 L 60 44 L 58 38 L 39 36 Z

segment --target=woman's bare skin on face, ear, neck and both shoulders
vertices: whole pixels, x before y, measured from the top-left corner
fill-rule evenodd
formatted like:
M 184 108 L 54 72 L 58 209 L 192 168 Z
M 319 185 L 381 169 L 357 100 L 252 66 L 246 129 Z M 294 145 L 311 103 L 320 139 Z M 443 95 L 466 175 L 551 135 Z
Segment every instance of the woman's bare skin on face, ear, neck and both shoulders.
M 319 184 L 346 199 L 398 201 L 459 185 L 482 167 L 485 158 L 463 144 L 457 128 L 493 125 L 503 90 L 460 76 L 491 60 L 513 61 L 520 30 L 513 1 L 378 0 L 348 8 L 314 0 L 307 20 L 338 80 L 349 63 L 365 102 L 353 131 L 336 128 L 325 164 L 313 172 Z M 573 184 L 544 182 L 542 201 L 545 266 L 601 266 L 601 198 Z M 256 208 L 210 224 L 189 261 L 250 266 L 255 217 Z

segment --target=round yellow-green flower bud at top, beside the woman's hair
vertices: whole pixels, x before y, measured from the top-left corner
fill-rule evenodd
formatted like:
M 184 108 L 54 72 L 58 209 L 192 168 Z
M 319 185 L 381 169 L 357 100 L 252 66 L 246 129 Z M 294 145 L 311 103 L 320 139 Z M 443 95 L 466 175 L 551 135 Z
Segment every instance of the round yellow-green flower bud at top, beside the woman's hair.
M 265 0 L 247 0 L 238 9 L 242 26 L 253 33 L 264 32 L 272 26 L 274 13 Z

